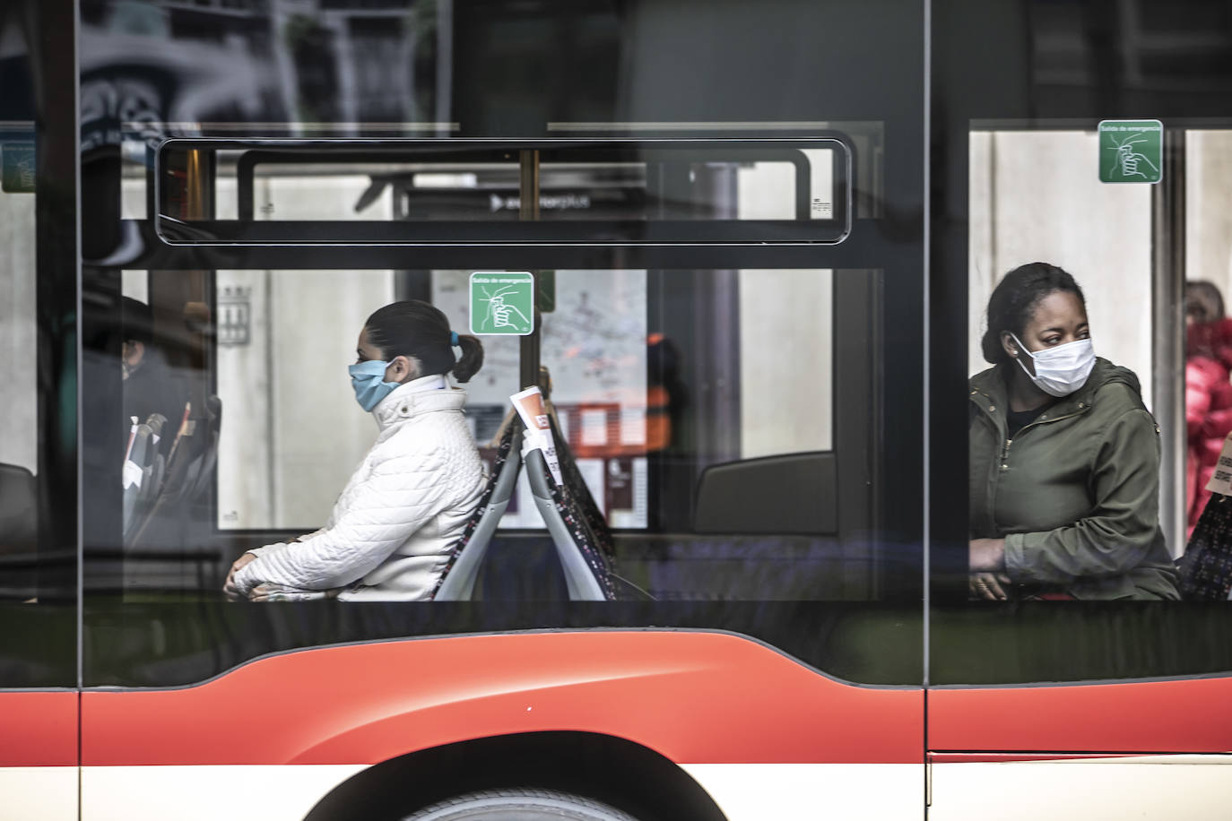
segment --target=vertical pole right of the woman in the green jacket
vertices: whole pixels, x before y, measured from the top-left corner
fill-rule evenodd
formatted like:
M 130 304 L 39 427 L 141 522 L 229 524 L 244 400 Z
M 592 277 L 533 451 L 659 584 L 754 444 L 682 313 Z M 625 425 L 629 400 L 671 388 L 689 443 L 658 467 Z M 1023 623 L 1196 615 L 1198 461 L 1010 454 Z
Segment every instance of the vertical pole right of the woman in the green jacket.
M 1151 187 L 1151 382 L 1159 425 L 1159 526 L 1185 549 L 1185 129 L 1164 128 L 1163 180 Z

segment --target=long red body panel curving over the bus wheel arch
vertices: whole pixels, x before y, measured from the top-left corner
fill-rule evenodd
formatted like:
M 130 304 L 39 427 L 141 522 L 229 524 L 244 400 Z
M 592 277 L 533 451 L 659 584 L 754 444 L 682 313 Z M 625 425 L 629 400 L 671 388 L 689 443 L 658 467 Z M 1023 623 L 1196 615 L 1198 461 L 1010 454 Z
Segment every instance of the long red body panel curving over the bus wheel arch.
M 83 694 L 85 766 L 372 764 L 551 730 L 679 763 L 920 763 L 923 693 L 732 635 L 595 631 L 320 647 L 186 689 Z

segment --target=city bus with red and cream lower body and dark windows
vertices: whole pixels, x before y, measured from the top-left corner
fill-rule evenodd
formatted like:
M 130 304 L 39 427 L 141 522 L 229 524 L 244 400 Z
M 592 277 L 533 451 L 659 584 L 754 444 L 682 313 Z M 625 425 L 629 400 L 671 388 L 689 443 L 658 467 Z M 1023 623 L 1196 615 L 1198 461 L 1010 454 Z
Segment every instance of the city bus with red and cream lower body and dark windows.
M 1230 604 L 973 598 L 965 489 L 1053 262 L 1184 553 L 1230 57 L 1202 0 L 0 6 L 0 819 L 1226 817 Z M 409 299 L 485 350 L 441 586 L 230 601 Z

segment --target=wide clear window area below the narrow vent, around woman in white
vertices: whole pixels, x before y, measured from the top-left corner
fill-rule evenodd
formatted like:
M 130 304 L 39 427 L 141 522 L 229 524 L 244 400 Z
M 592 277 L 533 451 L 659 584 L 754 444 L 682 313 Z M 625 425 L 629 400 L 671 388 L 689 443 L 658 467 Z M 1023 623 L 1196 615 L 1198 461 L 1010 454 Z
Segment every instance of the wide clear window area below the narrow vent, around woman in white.
M 181 460 L 184 453 L 202 449 L 203 468 L 217 464 L 217 502 L 211 503 L 212 483 L 205 476 L 196 480 L 192 499 L 175 505 L 171 486 L 166 492 L 131 486 L 126 492 L 139 499 L 126 507 L 124 531 L 129 547 L 139 549 L 127 559 L 129 585 L 166 586 L 160 575 L 140 567 L 149 550 L 168 549 L 171 533 L 180 534 L 180 548 L 187 550 L 201 539 L 260 547 L 266 533 L 276 540 L 272 534 L 278 532 L 301 535 L 322 527 L 378 433 L 372 416 L 356 405 L 346 372 L 365 320 L 397 295 L 419 292 L 464 334 L 472 325 L 469 274 L 217 272 L 208 311 L 214 318 L 212 351 L 175 356 L 168 350 L 175 347 L 174 335 L 152 337 L 145 346 L 147 356 L 158 357 L 163 383 L 177 388 L 174 398 L 170 388 L 164 391 L 164 404 L 187 404 L 187 423 L 182 414 L 161 422 L 150 433 L 159 443 L 152 439 L 149 454 L 129 459 L 138 465 L 127 468 L 144 470 L 145 481 L 165 486 L 169 478 L 159 471 L 175 470 L 168 462 L 172 448 L 186 449 L 179 453 Z M 668 598 L 832 597 L 844 575 L 828 572 L 838 566 L 833 563 L 844 561 L 834 553 L 844 526 L 855 534 L 869 524 L 866 516 L 840 516 L 838 510 L 835 486 L 844 478 L 837 473 L 835 417 L 872 409 L 870 395 L 854 393 L 859 385 L 845 391 L 841 405 L 835 402 L 835 283 L 867 284 L 872 274 L 553 274 L 554 305 L 542 314 L 541 362 L 558 436 L 606 526 L 620 534 L 617 544 L 642 567 L 647 592 Z M 142 297 L 159 304 L 160 282 L 177 289 L 168 274 L 128 272 L 126 304 Z M 184 325 L 185 310 L 191 311 L 191 304 L 171 306 L 168 314 Z M 511 410 L 509 398 L 524 388 L 521 343 L 517 336 L 480 338 L 484 366 L 466 385 L 466 425 L 490 464 Z M 867 343 L 864 353 L 872 356 Z M 166 364 L 193 358 L 216 362 L 214 370 Z M 142 367 L 124 380 L 126 396 Z M 188 401 L 192 382 L 211 391 L 198 409 Z M 138 425 L 147 420 L 143 411 Z M 214 420 L 223 420 L 217 455 L 201 441 Z M 844 455 L 862 457 L 871 448 L 867 439 L 853 442 Z M 808 469 L 800 473 L 800 464 Z M 129 479 L 138 481 L 136 473 Z M 777 502 L 765 508 L 742 501 L 740 494 L 755 484 L 779 495 Z M 790 503 L 806 501 L 807 512 L 785 517 Z M 192 518 L 191 531 L 185 529 L 185 516 Z M 525 474 L 501 528 L 543 528 Z M 700 535 L 724 532 L 723 539 Z M 798 560 L 785 563 L 788 556 Z M 229 564 L 222 551 L 217 563 L 209 572 L 187 579 L 188 586 L 217 593 L 219 569 Z M 754 566 L 760 569 L 747 572 Z

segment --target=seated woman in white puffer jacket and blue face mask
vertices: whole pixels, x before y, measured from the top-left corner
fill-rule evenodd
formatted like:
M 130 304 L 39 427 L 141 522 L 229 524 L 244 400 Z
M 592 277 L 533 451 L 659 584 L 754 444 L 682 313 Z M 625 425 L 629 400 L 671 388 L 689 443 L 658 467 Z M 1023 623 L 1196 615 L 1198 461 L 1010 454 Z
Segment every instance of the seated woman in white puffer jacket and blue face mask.
M 462 356 L 455 362 L 453 348 Z M 450 331 L 432 305 L 397 302 L 372 314 L 350 367 L 355 398 L 381 433 L 325 527 L 249 550 L 224 591 L 254 601 L 336 595 L 347 601 L 428 598 L 487 479 L 462 416 L 483 345 Z

